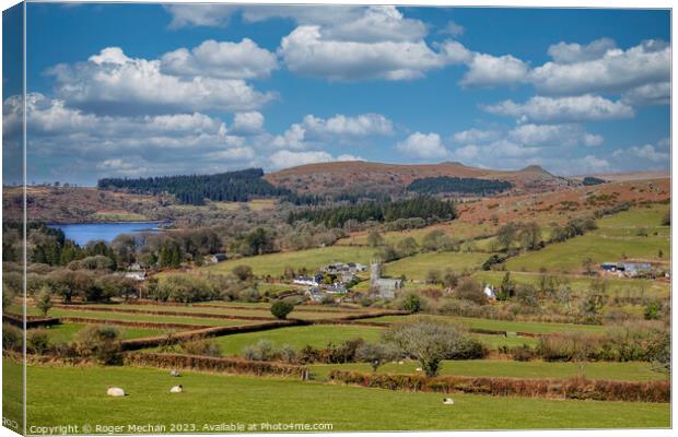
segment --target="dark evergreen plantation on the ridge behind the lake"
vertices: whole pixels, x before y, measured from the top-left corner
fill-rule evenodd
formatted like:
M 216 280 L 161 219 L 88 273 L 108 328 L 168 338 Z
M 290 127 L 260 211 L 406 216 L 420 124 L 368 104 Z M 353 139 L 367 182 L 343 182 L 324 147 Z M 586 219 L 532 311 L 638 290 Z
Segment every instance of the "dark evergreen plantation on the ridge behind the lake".
M 160 176 L 149 178 L 105 178 L 98 188 L 125 190 L 140 194 L 174 194 L 182 203 L 201 205 L 209 199 L 215 202 L 246 202 L 255 197 L 288 196 L 290 190 L 278 188 L 262 178 L 261 168 L 248 168 L 217 175 Z

